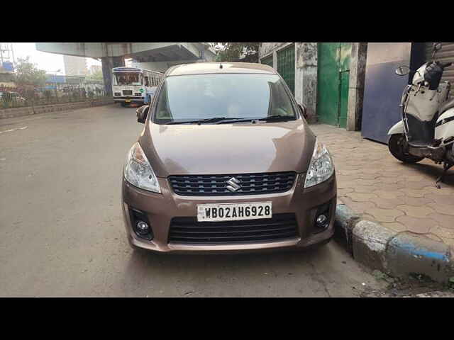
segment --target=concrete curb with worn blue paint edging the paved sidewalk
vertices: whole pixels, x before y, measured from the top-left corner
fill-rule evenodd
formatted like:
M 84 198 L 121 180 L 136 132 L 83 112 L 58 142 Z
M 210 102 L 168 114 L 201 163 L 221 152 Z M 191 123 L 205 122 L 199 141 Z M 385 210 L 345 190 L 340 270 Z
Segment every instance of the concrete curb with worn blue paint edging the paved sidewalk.
M 454 249 L 443 242 L 409 232 L 394 232 L 362 217 L 344 204 L 336 207 L 336 237 L 341 237 L 353 258 L 390 276 L 428 276 L 447 284 L 454 278 Z

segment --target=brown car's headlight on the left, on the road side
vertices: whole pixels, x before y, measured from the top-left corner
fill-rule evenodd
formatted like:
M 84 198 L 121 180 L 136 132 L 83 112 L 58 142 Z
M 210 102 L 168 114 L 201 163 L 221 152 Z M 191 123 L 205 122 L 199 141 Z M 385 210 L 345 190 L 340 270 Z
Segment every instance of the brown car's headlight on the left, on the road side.
M 126 181 L 133 186 L 137 186 L 143 190 L 153 191 L 153 193 L 161 193 L 156 175 L 153 169 L 151 169 L 150 162 L 148 162 L 138 142 L 128 152 L 123 174 Z

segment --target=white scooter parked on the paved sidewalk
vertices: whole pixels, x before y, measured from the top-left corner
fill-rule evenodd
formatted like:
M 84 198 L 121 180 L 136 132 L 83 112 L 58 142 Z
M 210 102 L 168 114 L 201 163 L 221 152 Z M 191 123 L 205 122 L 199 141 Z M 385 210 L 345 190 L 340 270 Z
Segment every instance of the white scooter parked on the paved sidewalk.
M 433 44 L 432 59 L 441 50 L 441 42 Z M 443 181 L 446 171 L 454 165 L 454 99 L 448 100 L 450 83 L 441 82 L 443 70 L 453 64 L 431 61 L 416 70 L 411 85 L 402 94 L 402 120 L 389 129 L 389 151 L 405 163 L 432 159 L 443 163 Z M 406 66 L 397 67 L 396 74 L 409 74 Z

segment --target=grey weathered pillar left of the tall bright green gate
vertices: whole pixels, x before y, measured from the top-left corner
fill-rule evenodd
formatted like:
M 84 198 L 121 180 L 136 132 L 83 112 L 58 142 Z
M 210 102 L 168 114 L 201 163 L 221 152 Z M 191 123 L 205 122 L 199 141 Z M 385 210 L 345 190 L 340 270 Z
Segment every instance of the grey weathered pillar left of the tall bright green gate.
M 317 42 L 295 42 L 295 99 L 307 108 L 309 123 L 317 112 Z

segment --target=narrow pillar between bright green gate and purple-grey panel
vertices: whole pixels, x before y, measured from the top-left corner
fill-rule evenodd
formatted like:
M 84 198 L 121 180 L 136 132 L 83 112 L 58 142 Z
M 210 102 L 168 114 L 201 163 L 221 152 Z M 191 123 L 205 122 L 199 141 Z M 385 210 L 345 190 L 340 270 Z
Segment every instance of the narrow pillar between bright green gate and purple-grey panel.
M 367 42 L 352 42 L 348 84 L 347 130 L 361 130 L 362 101 L 367 61 Z

